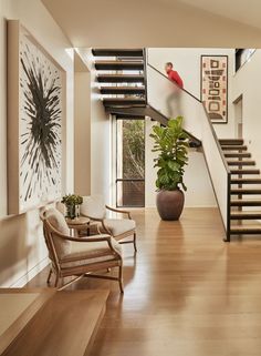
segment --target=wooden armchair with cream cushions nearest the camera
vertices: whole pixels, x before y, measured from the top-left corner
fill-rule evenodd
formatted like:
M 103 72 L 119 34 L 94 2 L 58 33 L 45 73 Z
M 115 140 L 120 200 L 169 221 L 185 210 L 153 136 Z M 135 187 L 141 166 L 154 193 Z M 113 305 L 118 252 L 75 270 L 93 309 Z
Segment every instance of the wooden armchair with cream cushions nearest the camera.
M 62 288 L 82 277 L 95 277 L 118 281 L 123 293 L 123 260 L 119 244 L 111 235 L 74 238 L 64 216 L 56 208 L 49 208 L 41 213 L 43 233 L 51 260 L 48 276 L 50 284 L 52 273 L 55 274 L 54 286 L 61 278 L 75 276 Z M 118 276 L 97 275 L 93 272 L 118 267 Z

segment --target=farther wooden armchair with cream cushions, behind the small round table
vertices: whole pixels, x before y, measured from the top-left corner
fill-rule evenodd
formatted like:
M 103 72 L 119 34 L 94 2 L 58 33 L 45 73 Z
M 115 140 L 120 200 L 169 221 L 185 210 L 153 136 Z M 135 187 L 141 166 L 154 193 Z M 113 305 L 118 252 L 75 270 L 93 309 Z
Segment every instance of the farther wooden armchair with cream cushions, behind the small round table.
M 127 218 L 107 218 L 106 210 L 127 215 Z M 135 252 L 136 245 L 136 223 L 130 216 L 130 212 L 118 210 L 105 205 L 103 199 L 96 196 L 83 196 L 81 215 L 87 216 L 92 221 L 101 222 L 100 232 L 112 235 L 119 244 L 133 243 Z M 125 240 L 132 237 L 130 240 Z

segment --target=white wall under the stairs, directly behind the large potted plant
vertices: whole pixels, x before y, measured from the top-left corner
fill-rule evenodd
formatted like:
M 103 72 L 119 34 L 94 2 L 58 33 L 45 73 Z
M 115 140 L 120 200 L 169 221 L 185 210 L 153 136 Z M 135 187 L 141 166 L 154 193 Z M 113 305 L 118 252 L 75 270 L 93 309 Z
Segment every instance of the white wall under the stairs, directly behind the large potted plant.
M 154 169 L 155 153 L 152 152 L 154 142 L 149 138 L 154 121 L 146 119 L 146 164 L 145 164 L 145 206 L 153 207 L 156 202 L 156 172 Z M 203 154 L 195 150 L 189 150 L 189 162 L 185 167 L 184 182 L 187 186 L 185 193 L 186 207 L 216 206 L 213 190 L 208 175 Z

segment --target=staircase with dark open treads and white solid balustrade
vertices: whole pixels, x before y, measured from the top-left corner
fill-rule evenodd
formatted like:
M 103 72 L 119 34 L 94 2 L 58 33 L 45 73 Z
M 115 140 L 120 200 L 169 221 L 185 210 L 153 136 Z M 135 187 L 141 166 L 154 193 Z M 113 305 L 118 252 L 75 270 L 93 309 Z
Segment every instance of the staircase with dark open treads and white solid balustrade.
M 167 124 L 168 118 L 163 112 L 167 112 L 164 94 L 169 94 L 165 85 L 168 79 L 146 63 L 144 49 L 93 49 L 92 53 L 106 112 L 122 119 L 149 116 Z M 158 85 L 154 87 L 155 83 Z M 169 90 L 171 93 L 171 88 Z M 202 144 L 226 241 L 230 241 L 231 235 L 261 234 L 261 175 L 247 145 L 243 140 L 218 140 L 201 101 L 187 91 L 179 94 L 190 146 Z

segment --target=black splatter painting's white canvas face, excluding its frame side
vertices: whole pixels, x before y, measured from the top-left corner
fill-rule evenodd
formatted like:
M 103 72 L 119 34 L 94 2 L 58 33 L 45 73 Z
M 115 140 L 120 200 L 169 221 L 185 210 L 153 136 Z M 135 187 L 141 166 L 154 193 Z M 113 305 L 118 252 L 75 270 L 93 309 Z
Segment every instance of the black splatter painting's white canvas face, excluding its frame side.
M 22 211 L 61 196 L 62 79 L 27 35 L 20 38 L 19 163 Z

